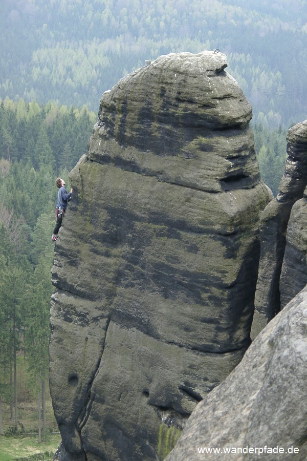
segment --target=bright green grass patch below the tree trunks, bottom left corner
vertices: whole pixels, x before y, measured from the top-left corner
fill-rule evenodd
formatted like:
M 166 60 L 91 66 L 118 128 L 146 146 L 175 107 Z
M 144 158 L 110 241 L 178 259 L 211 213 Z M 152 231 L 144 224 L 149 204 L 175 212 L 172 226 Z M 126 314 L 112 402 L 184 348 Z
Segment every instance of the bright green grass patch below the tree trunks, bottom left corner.
M 48 442 L 37 442 L 35 437 L 0 436 L 0 461 L 14 461 L 19 458 L 44 460 L 51 459 L 61 441 L 60 435 L 49 435 Z M 44 453 L 43 456 L 34 456 Z M 49 454 L 49 455 L 48 455 Z

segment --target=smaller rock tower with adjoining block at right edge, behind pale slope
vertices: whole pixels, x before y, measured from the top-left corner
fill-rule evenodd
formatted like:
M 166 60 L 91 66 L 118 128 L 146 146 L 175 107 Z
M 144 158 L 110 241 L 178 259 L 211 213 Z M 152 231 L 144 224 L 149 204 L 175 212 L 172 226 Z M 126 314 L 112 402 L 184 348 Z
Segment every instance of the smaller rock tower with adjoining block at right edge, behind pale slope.
M 252 338 L 307 283 L 307 120 L 287 135 L 279 193 L 261 216 L 261 257 Z

